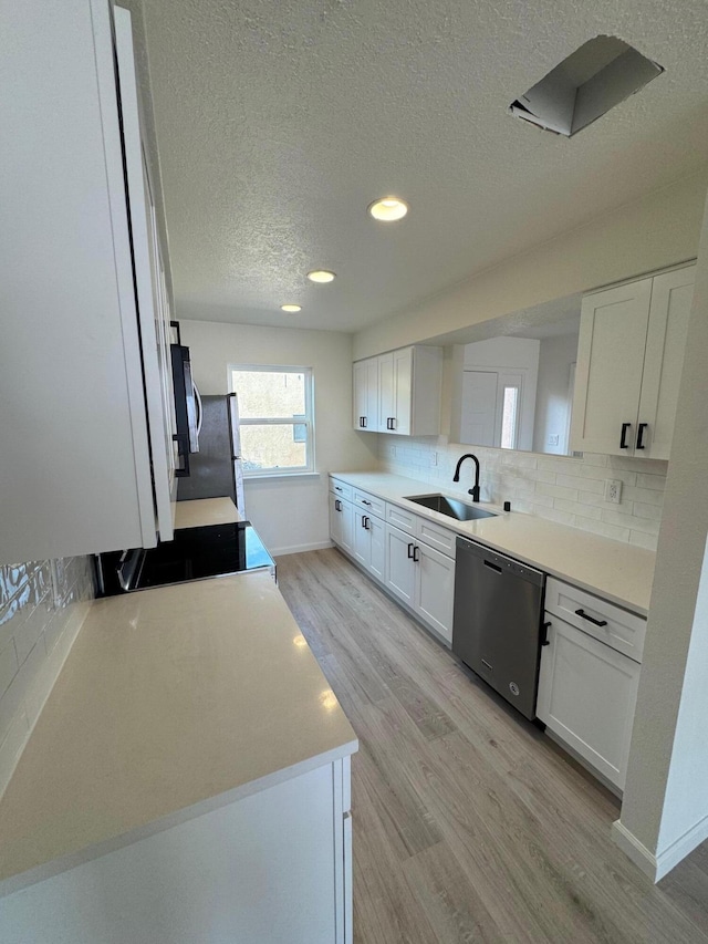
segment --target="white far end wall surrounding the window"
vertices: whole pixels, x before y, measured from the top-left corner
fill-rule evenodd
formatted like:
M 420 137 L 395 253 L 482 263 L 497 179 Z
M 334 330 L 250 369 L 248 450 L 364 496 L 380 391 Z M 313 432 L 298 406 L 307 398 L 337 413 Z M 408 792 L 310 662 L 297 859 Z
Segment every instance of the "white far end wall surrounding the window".
M 250 479 L 246 510 L 274 554 L 327 547 L 327 473 L 376 468 L 376 436 L 352 428 L 352 338 L 334 331 L 180 321 L 201 393 L 227 393 L 228 364 L 312 367 L 316 476 Z

